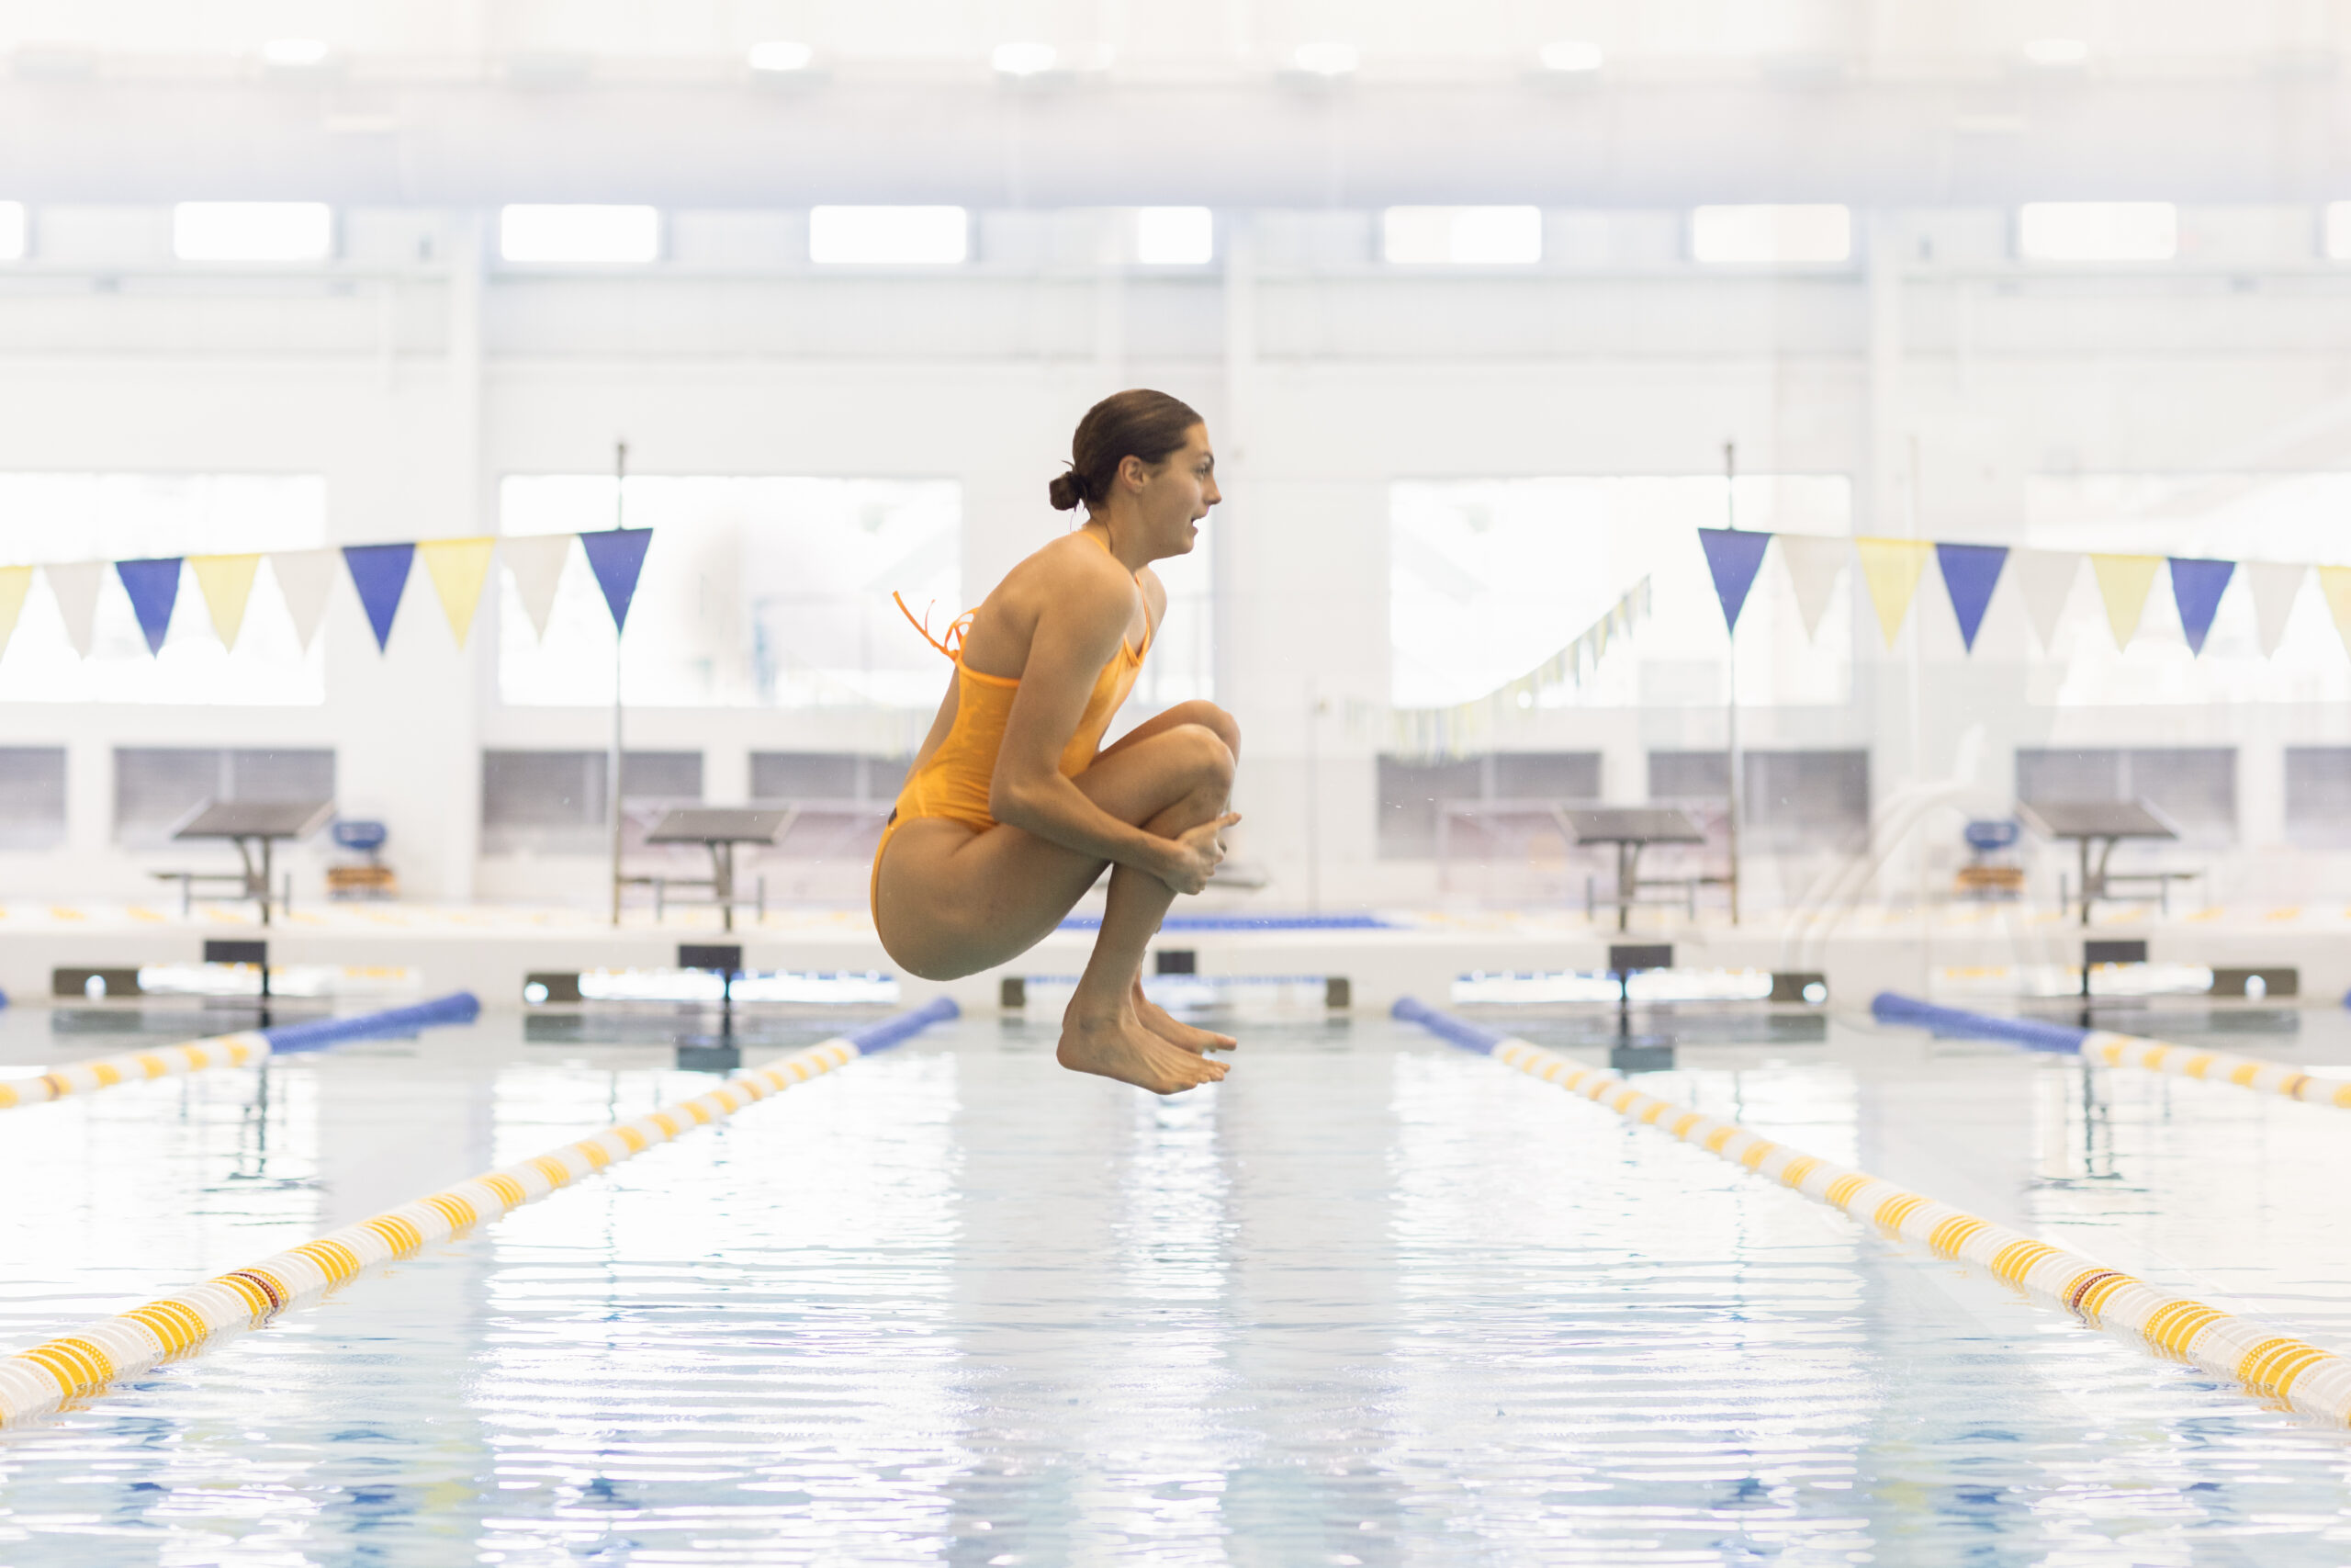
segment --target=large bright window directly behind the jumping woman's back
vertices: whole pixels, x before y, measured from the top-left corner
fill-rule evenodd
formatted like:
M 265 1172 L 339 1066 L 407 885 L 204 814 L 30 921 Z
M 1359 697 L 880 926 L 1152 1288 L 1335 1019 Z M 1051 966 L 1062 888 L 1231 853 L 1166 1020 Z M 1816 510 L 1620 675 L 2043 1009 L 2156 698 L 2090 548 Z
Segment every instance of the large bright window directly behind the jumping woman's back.
M 510 477 L 505 534 L 611 527 L 609 475 Z M 628 614 L 625 696 L 663 708 L 905 708 L 929 712 L 945 661 L 891 592 L 945 632 L 964 609 L 962 498 L 936 480 L 628 482 L 654 548 Z M 611 611 L 581 552 L 545 637 L 501 574 L 498 691 L 517 705 L 611 703 Z M 1173 592 L 1173 590 L 1171 590 Z

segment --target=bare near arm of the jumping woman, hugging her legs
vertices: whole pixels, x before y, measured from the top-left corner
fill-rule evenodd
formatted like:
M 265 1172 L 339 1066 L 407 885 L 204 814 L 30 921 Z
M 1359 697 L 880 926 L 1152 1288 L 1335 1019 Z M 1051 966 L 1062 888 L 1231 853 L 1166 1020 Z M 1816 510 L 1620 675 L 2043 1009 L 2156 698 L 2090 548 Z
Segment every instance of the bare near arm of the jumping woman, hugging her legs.
M 1107 562 L 1105 562 L 1107 564 Z M 1178 891 L 1194 882 L 1197 853 L 1110 816 L 1060 771 L 1060 752 L 1093 696 L 1093 682 L 1126 637 L 1136 595 L 1124 571 L 1072 571 L 1056 583 L 1030 635 L 1020 689 L 1004 722 L 987 813 L 1065 849 L 1133 865 Z

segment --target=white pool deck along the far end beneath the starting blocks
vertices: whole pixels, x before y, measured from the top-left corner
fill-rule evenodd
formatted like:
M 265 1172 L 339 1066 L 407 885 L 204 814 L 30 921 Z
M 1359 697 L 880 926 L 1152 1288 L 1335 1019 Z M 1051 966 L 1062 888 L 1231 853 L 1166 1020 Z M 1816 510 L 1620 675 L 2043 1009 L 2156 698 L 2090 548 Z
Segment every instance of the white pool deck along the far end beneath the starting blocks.
M 1831 999 L 1862 1004 L 1881 990 L 1925 994 L 1935 976 L 1951 971 L 2064 969 L 2081 959 L 2085 936 L 2052 910 L 2015 905 L 1761 914 L 1742 926 L 1721 917 L 1643 919 L 1625 936 L 1559 912 L 1382 910 L 1378 924 L 1333 924 L 1328 914 L 1284 924 L 1279 912 L 1244 907 L 1208 919 L 1201 929 L 1178 917 L 1157 947 L 1192 952 L 1208 978 L 1345 978 L 1359 1009 L 1406 994 L 1444 997 L 1467 973 L 1606 971 L 1613 943 L 1672 943 L 1686 969 L 1817 973 Z M 416 990 L 470 990 L 487 1006 L 517 1006 L 531 973 L 668 969 L 679 943 L 741 943 L 752 971 L 893 971 L 865 910 L 776 910 L 724 936 L 710 910 L 672 910 L 665 922 L 632 910 L 611 926 L 578 907 L 313 905 L 263 933 L 249 910 L 233 905 L 197 905 L 181 917 L 158 905 L 24 900 L 0 907 L 0 990 L 45 997 L 61 966 L 193 964 L 205 938 L 254 936 L 268 936 L 273 964 L 407 971 L 402 980 Z M 2118 905 L 2088 936 L 2144 938 L 2156 964 L 2295 969 L 2306 1006 L 2335 1006 L 2351 990 L 2351 907 L 2335 903 L 2215 905 L 2172 917 Z M 945 985 L 905 978 L 903 997 L 950 994 L 964 1009 L 990 1011 L 1004 978 L 1074 976 L 1091 945 L 1091 929 L 1063 929 L 994 971 Z

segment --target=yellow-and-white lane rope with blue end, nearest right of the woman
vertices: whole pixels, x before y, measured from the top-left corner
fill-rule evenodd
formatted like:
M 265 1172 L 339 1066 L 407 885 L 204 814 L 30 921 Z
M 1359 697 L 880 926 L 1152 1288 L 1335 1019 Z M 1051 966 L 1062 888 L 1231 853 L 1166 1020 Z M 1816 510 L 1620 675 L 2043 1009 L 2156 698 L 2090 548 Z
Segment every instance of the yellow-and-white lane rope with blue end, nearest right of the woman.
M 1627 1121 L 1653 1126 L 1756 1175 L 1768 1175 L 1782 1187 L 1794 1187 L 1808 1199 L 1843 1208 L 1886 1234 L 1918 1241 L 1937 1258 L 1972 1262 L 2029 1295 L 2064 1307 L 2085 1324 L 2128 1328 L 2161 1354 L 2241 1382 L 2252 1394 L 2283 1401 L 2304 1415 L 2351 1422 L 2351 1361 L 2327 1349 L 2278 1335 L 2217 1307 L 2168 1295 L 2092 1258 L 1937 1204 L 1876 1175 L 1803 1154 L 1737 1121 L 1721 1121 L 1660 1100 L 1613 1072 L 1585 1067 L 1500 1030 L 1439 1013 L 1413 997 L 1396 1001 L 1394 1013 L 1455 1046 L 1479 1051 L 1545 1084 L 1559 1084 L 1606 1105 Z

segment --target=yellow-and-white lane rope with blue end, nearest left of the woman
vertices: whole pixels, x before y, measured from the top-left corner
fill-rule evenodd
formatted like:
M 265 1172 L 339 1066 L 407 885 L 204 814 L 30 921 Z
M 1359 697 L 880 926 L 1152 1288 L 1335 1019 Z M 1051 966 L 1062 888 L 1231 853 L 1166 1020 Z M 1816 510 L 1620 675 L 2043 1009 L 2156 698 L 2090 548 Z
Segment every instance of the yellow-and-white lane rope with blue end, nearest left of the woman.
M 696 1126 L 724 1121 L 745 1105 L 806 1084 L 860 1056 L 889 1051 L 955 1016 L 955 1001 L 940 997 L 929 1006 L 884 1018 L 806 1051 L 795 1051 L 769 1067 L 726 1079 L 710 1093 L 679 1100 L 635 1121 L 616 1121 L 602 1133 L 576 1138 L 503 1171 L 475 1175 L 176 1295 L 99 1319 L 80 1333 L 59 1335 L 5 1356 L 0 1359 L 0 1427 L 47 1415 L 68 1399 L 103 1392 L 115 1378 L 129 1378 L 158 1361 L 193 1354 L 219 1333 L 259 1328 L 280 1312 L 317 1300 L 379 1262 L 409 1258 L 418 1248 L 484 1220 L 503 1220 L 515 1208 L 569 1187 L 583 1175 L 632 1159 Z

